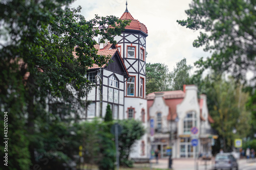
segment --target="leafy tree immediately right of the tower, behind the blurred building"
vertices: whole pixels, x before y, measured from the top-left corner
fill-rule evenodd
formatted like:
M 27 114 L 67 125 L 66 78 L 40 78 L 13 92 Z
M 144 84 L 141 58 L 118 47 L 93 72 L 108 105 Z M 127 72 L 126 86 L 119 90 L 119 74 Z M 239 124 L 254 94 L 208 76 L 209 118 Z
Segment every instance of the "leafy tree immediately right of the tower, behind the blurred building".
M 146 63 L 146 93 L 168 90 L 167 65 L 162 63 Z

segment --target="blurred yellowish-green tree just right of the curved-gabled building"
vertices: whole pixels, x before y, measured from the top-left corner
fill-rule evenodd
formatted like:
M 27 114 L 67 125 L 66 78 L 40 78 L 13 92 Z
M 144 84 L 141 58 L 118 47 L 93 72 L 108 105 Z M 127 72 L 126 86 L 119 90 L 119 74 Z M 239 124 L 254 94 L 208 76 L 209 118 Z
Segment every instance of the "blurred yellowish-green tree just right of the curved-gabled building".
M 215 120 L 214 129 L 223 139 L 223 149 L 227 151 L 235 137 L 243 138 L 248 134 L 250 114 L 245 108 L 248 93 L 242 92 L 242 86 L 237 86 L 233 79 L 217 77 L 211 85 L 207 90 L 207 96 L 212 102 L 209 113 Z M 234 128 L 237 129 L 236 134 L 232 133 Z

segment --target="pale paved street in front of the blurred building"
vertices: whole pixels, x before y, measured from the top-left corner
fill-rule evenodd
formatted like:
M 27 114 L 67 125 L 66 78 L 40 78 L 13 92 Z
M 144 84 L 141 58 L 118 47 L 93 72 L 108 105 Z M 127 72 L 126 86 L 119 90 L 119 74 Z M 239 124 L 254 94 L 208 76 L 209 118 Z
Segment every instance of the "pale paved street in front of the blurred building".
M 211 170 L 213 169 L 214 160 L 204 161 L 200 160 L 198 162 L 198 170 Z M 255 170 L 256 169 L 256 160 L 240 159 L 238 160 L 239 169 L 240 170 Z M 156 164 L 155 160 L 153 160 L 152 167 L 153 168 L 161 168 L 166 169 L 168 166 L 168 159 L 160 159 L 159 163 Z M 174 170 L 195 170 L 195 160 L 194 159 L 174 159 L 173 160 L 173 169 Z

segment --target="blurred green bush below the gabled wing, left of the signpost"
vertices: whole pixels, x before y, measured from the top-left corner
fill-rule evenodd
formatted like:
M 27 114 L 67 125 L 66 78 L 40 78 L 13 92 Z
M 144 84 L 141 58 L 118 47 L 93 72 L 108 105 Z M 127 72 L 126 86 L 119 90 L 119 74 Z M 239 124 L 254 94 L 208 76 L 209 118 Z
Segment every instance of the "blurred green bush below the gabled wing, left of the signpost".
M 77 139 L 83 147 L 83 158 L 86 163 L 97 164 L 99 169 L 114 169 L 115 143 L 109 127 L 113 123 L 83 122 L 78 124 Z

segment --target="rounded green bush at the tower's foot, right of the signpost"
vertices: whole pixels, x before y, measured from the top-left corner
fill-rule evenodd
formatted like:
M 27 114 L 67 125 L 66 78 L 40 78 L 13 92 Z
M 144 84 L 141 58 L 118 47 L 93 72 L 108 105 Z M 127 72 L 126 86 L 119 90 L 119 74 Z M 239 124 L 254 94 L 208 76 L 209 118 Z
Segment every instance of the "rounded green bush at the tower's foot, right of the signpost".
M 145 134 L 145 129 L 139 120 L 123 119 L 118 120 L 122 126 L 122 133 L 119 139 L 120 165 L 132 167 L 133 162 L 129 160 L 129 154 L 132 152 L 132 146 L 136 140 Z

